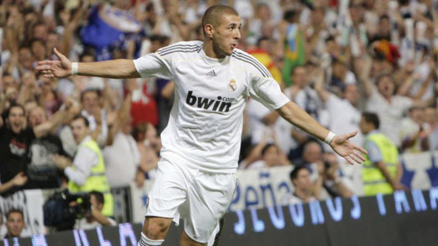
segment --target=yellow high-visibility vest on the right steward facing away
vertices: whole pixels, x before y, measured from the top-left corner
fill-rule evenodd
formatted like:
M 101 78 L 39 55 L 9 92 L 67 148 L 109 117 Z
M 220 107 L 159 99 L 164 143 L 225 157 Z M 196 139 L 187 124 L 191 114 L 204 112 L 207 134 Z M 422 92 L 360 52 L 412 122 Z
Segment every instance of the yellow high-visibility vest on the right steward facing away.
M 381 133 L 370 134 L 366 138 L 365 143 L 368 141 L 373 142 L 380 149 L 386 169 L 391 177 L 395 178 L 399 162 L 399 153 L 395 144 Z M 393 192 L 391 184 L 386 181 L 383 173 L 368 157 L 366 157 L 366 161 L 362 167 L 362 180 L 364 194 L 367 196 L 376 195 L 378 193 L 390 194 Z

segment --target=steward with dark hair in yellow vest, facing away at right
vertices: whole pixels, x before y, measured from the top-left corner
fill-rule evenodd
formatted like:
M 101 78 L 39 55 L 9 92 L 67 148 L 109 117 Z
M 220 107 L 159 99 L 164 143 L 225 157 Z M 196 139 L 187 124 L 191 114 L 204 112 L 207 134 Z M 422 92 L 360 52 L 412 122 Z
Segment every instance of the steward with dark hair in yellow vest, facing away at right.
M 390 194 L 404 189 L 400 183 L 402 168 L 398 159 L 397 146 L 379 129 L 379 118 L 374 113 L 363 113 L 360 130 L 366 135 L 365 149 L 368 151 L 362 166 L 362 180 L 365 195 Z

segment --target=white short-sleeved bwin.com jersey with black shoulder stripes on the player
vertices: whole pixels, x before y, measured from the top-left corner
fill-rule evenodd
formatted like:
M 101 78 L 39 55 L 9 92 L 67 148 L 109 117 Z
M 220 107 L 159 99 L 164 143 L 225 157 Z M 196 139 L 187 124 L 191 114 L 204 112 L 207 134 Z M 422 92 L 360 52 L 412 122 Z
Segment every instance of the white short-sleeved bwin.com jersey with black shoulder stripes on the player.
M 236 171 L 248 96 L 270 109 L 289 99 L 267 69 L 251 55 L 205 55 L 203 42 L 179 42 L 134 60 L 142 77 L 175 82 L 169 123 L 161 134 L 161 156 L 184 158 L 201 170 Z M 173 160 L 173 159 L 172 159 Z

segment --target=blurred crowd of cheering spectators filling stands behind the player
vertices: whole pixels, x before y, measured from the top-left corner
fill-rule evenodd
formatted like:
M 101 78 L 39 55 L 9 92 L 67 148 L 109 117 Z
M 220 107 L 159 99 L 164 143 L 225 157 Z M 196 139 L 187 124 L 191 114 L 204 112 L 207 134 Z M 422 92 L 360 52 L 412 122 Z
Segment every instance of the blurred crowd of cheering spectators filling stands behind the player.
M 378 130 L 400 153 L 438 150 L 437 1 L 2 0 L 1 195 L 67 187 L 90 174 L 91 167 L 69 168 L 89 154 L 78 150 L 78 115 L 102 150 L 112 188 L 153 179 L 172 81 L 47 79 L 36 63 L 57 59 L 54 48 L 72 61 L 93 62 L 202 40 L 200 18 L 218 3 L 239 12 L 238 48 L 322 125 L 336 134 L 358 131 L 352 141 L 363 146 L 361 115 L 374 112 Z M 240 169 L 300 166 L 291 173 L 299 189 L 286 202 L 353 194 L 324 145 L 253 99 L 244 116 Z

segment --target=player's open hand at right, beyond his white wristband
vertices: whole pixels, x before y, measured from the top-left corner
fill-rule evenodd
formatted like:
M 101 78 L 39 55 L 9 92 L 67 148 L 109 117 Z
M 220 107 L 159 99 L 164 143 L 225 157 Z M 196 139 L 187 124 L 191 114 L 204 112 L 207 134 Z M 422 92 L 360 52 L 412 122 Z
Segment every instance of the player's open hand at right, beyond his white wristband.
M 356 136 L 356 132 L 336 135 L 330 142 L 330 147 L 349 164 L 362 164 L 365 157 L 362 154 L 368 154 L 363 148 L 351 143 L 350 138 Z

